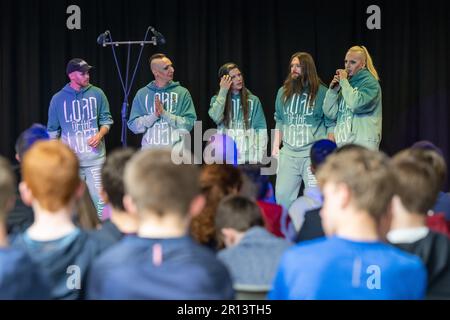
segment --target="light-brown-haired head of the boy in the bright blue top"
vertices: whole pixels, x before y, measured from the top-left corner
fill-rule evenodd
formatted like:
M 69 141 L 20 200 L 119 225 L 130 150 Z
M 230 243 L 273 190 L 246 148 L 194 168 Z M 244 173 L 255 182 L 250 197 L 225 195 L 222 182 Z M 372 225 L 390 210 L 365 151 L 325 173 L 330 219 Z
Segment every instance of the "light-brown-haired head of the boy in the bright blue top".
M 388 157 L 359 147 L 330 155 L 317 179 L 325 197 L 321 214 L 326 234 L 334 234 L 350 210 L 367 213 L 379 223 L 396 190 Z

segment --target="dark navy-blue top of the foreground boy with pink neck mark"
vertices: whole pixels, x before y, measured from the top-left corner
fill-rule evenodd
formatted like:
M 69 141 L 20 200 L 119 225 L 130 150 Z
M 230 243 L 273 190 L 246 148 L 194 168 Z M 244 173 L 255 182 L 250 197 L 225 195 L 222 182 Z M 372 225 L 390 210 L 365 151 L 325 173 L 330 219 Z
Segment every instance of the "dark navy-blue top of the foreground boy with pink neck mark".
M 189 237 L 125 236 L 93 264 L 89 299 L 232 299 L 231 278 L 214 253 Z

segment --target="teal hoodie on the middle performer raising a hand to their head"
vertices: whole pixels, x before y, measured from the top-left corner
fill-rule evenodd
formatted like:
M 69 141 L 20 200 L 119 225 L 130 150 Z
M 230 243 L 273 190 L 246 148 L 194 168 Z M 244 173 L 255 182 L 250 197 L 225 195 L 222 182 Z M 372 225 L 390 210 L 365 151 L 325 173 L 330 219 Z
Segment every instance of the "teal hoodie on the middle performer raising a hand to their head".
M 261 162 L 267 150 L 267 124 L 261 102 L 250 90 L 248 91 L 249 128 L 245 129 L 240 95 L 232 94 L 233 111 L 230 124 L 226 128 L 223 119 L 227 92 L 220 89 L 219 94 L 211 98 L 208 114 L 217 124 L 219 132 L 225 133 L 236 142 L 239 164 Z

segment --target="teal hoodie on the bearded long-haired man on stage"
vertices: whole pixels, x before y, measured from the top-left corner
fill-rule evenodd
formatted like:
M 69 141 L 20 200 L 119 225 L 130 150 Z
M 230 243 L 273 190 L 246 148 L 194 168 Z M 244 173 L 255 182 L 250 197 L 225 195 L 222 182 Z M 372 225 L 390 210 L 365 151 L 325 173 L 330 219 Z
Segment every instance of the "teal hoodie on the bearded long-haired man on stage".
M 327 134 L 334 130 L 334 121 L 322 110 L 326 88 L 319 86 L 312 106 L 309 105 L 309 87 L 286 102 L 283 102 L 283 91 L 283 87 L 278 90 L 275 101 L 275 128 L 283 135 L 282 150 L 293 157 L 309 157 L 311 145 L 326 139 Z

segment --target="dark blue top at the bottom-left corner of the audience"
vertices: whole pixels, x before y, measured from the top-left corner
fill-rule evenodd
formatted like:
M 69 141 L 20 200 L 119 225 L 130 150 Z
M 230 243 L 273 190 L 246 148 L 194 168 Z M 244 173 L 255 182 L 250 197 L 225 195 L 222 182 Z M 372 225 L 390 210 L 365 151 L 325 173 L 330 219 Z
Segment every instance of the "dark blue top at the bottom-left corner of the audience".
M 0 248 L 0 300 L 49 298 L 49 281 L 26 253 Z

